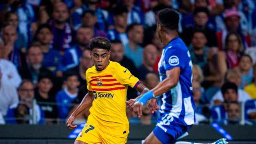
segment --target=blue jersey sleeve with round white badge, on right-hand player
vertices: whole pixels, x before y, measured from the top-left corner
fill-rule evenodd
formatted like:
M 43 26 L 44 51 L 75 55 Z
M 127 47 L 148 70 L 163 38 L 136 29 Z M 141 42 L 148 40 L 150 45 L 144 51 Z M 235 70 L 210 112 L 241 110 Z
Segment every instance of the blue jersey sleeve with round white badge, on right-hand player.
M 185 67 L 186 58 L 188 58 L 187 53 L 183 50 L 178 50 L 177 48 L 169 48 L 164 54 L 165 69 L 171 70 L 175 67 L 180 67 L 183 69 Z

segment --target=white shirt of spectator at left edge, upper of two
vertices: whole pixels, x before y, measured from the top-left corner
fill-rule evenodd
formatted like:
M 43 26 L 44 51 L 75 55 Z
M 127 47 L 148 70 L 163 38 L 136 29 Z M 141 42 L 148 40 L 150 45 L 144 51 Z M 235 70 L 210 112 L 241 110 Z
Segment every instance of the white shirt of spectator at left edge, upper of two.
M 15 86 L 15 88 L 20 85 L 20 74 L 12 62 L 9 60 L 0 59 L 0 69 L 2 70 L 3 83 L 11 84 Z

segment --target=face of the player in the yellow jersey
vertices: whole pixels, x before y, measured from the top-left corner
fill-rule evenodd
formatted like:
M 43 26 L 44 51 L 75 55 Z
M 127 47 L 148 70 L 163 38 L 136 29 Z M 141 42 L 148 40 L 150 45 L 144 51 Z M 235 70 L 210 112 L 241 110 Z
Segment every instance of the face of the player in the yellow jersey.
M 90 53 L 92 62 L 97 71 L 104 70 L 108 66 L 111 53 L 110 51 L 102 48 L 94 48 Z

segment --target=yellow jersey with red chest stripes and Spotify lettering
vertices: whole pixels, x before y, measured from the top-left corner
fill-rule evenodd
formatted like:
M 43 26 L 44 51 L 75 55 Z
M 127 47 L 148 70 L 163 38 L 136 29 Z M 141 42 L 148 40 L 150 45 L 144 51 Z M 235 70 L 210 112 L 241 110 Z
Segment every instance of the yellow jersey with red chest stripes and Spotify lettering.
M 95 66 L 89 68 L 86 71 L 86 81 L 87 89 L 92 91 L 94 96 L 90 116 L 98 121 L 100 130 L 112 136 L 127 136 L 127 88 L 136 88 L 140 84 L 139 79 L 119 63 L 110 61 L 102 71 L 96 71 Z

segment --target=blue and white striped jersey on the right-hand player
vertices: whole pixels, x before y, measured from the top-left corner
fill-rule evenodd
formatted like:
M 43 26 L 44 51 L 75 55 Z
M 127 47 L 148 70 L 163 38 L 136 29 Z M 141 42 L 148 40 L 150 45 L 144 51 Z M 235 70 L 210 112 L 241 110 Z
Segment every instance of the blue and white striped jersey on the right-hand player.
M 195 104 L 192 96 L 192 61 L 186 44 L 179 38 L 171 40 L 163 49 L 158 63 L 160 81 L 166 71 L 180 67 L 178 84 L 162 95 L 160 115 L 178 118 L 185 125 L 195 123 Z

